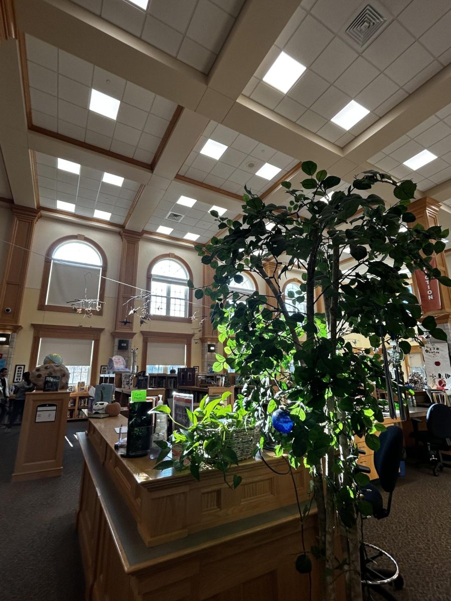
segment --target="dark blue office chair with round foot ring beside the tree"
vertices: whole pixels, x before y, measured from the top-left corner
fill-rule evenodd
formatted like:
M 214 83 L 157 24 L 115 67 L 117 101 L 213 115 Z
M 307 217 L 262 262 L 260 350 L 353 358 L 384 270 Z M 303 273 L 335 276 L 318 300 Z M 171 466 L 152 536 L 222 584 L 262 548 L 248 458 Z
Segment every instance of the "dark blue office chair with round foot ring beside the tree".
M 402 455 L 402 430 L 397 426 L 390 426 L 381 433 L 379 441 L 381 446 L 374 454 L 374 465 L 382 489 L 388 492 L 387 507 L 384 507 L 381 492 L 374 484 L 366 484 L 360 489 L 364 500 L 368 501 L 373 507 L 373 517 L 378 520 L 388 517 L 390 514 L 391 497 L 396 486 Z M 369 469 L 364 468 L 363 471 L 366 472 Z M 379 567 L 378 560 L 388 560 L 391 567 L 389 569 Z M 384 588 L 384 585 L 390 584 L 395 590 L 400 590 L 404 585 L 404 581 L 399 573 L 396 560 L 387 551 L 362 541 L 360 544 L 360 570 L 363 587 L 370 587 L 370 590 L 375 591 L 384 599 L 396 601 L 396 597 Z

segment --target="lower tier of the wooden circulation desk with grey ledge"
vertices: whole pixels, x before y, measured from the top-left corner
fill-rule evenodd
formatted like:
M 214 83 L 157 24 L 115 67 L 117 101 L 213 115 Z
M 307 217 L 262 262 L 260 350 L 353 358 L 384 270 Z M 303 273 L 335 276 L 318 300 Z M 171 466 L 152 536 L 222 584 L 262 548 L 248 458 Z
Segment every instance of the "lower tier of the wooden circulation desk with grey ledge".
M 77 527 L 86 601 L 308 599 L 308 576 L 295 570 L 302 548 L 295 505 L 147 548 L 98 451 L 85 433 L 78 438 L 85 461 Z M 174 512 L 179 509 L 174 507 Z M 176 513 L 173 517 L 177 522 Z M 313 510 L 305 523 L 307 548 L 315 544 L 315 532 Z M 322 579 L 317 564 L 311 582 L 311 599 L 320 601 Z M 340 585 L 336 599 L 345 599 Z

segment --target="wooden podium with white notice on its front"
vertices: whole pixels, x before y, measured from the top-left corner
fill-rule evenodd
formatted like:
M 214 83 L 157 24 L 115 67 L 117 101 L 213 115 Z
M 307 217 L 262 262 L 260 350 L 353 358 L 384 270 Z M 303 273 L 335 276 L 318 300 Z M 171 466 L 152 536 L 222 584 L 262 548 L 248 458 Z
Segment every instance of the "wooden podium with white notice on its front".
M 61 475 L 69 392 L 27 392 L 13 482 Z

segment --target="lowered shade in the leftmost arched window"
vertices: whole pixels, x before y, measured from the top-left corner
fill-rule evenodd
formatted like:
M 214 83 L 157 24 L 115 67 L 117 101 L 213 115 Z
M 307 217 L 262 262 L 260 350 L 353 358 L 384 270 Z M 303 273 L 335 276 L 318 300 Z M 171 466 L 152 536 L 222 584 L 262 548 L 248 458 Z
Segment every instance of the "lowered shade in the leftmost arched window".
M 84 299 L 85 294 L 88 299 L 98 299 L 99 288 L 99 267 L 52 261 L 47 304 L 70 307 L 67 301 Z

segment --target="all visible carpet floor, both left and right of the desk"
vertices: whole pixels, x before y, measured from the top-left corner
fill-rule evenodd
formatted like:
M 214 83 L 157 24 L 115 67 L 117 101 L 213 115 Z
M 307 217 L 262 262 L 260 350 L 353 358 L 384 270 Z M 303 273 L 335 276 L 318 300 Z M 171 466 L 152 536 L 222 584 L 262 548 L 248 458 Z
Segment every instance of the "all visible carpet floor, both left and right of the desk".
M 67 426 L 63 475 L 11 483 L 19 427 L 0 430 L 0 599 L 82 601 L 84 578 L 77 535 L 82 457 L 76 432 Z M 387 519 L 366 520 L 365 540 L 396 557 L 405 589 L 399 601 L 451 599 L 451 469 L 438 478 L 428 469 L 407 468 Z M 374 600 L 380 597 L 374 596 Z M 291 600 L 280 600 L 291 601 Z

